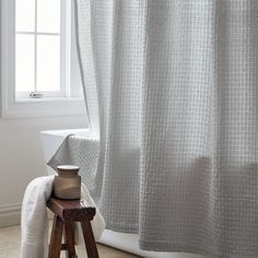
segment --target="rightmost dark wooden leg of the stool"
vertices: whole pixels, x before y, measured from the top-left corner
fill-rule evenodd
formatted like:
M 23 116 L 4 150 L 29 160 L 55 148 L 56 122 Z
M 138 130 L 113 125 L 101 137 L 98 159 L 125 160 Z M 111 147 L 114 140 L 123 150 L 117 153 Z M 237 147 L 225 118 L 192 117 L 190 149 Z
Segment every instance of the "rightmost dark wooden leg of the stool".
M 93 235 L 92 225 L 89 220 L 81 221 L 82 233 L 85 242 L 86 253 L 89 258 L 98 258 L 96 242 Z

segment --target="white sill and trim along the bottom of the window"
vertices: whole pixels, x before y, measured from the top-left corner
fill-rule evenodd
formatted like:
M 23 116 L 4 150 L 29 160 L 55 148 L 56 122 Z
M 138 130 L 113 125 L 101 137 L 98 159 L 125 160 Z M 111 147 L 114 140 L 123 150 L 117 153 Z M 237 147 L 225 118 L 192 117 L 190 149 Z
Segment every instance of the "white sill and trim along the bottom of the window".
M 79 97 L 19 98 L 3 103 L 1 118 L 86 116 L 84 99 Z

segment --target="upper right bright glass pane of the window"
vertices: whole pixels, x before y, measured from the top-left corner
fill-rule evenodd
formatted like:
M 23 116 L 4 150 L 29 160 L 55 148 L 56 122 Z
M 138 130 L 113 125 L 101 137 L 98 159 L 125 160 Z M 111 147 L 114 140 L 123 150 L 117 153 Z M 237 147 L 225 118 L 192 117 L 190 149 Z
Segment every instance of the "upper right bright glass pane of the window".
M 37 0 L 37 31 L 59 33 L 60 11 L 60 0 Z

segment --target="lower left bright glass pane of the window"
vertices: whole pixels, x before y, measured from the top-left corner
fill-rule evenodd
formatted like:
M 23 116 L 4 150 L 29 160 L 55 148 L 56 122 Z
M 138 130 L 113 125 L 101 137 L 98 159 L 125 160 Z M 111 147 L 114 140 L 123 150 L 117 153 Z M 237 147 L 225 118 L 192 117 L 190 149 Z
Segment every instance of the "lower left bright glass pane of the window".
M 15 44 L 16 91 L 34 91 L 34 36 L 16 35 Z

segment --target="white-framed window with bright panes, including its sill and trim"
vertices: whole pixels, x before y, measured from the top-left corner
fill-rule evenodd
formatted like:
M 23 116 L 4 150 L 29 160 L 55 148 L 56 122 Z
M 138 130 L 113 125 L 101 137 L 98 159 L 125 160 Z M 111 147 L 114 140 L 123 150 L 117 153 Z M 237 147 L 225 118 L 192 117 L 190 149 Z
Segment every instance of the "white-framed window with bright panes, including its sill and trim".
M 1 90 L 2 117 L 85 114 L 72 0 L 1 0 Z

